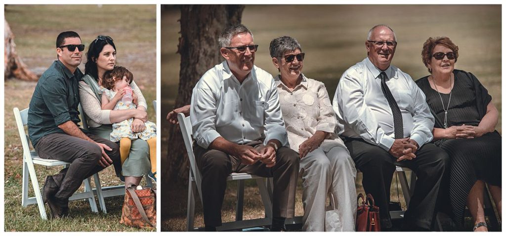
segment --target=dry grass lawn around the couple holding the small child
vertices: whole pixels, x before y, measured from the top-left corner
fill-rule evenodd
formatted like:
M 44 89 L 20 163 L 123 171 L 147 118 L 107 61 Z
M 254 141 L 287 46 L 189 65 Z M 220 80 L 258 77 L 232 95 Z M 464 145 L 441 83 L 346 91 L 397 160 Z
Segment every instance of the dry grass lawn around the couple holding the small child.
M 156 121 L 151 105 L 156 99 L 155 5 L 7 5 L 5 18 L 15 34 L 18 55 L 37 74 L 56 60 L 55 41 L 60 32 L 76 31 L 87 47 L 99 34 L 111 36 L 117 64 L 132 71 L 148 103 L 149 120 Z M 79 66 L 83 72 L 85 62 L 83 59 Z M 119 224 L 122 196 L 106 198 L 107 215 L 92 213 L 87 201 L 71 202 L 70 217 L 60 220 L 41 220 L 36 205 L 21 207 L 23 151 L 12 110 L 28 107 L 35 85 L 17 79 L 5 81 L 5 231 L 138 231 Z M 40 185 L 46 175 L 60 170 L 35 169 Z M 100 177 L 103 186 L 121 184 L 112 167 L 100 172 Z M 31 185 L 29 188 L 33 196 Z M 46 212 L 49 214 L 49 209 Z

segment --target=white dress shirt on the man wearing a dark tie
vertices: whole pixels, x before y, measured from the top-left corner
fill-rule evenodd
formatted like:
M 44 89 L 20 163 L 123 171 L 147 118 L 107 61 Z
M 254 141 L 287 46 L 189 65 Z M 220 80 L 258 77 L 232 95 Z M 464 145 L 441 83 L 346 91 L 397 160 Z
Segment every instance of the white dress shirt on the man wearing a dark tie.
M 335 90 L 333 109 L 340 135 L 361 137 L 388 151 L 395 140 L 394 120 L 381 89 L 378 76 L 381 72 L 369 58 L 346 70 Z M 386 83 L 402 113 L 404 137 L 423 146 L 432 140 L 434 127 L 424 93 L 399 68 L 391 65 L 385 73 Z

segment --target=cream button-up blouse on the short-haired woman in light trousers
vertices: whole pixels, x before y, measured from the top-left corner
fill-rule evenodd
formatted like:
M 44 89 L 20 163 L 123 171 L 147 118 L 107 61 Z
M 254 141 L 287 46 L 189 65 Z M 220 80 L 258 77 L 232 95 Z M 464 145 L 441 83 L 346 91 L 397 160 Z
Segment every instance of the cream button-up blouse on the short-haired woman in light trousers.
M 292 150 L 299 152 L 299 146 L 318 130 L 328 132 L 320 145 L 323 151 L 336 146 L 346 148 L 343 140 L 334 133 L 337 121 L 325 84 L 303 74 L 301 83 L 290 91 L 279 75 L 274 77 L 274 81 Z

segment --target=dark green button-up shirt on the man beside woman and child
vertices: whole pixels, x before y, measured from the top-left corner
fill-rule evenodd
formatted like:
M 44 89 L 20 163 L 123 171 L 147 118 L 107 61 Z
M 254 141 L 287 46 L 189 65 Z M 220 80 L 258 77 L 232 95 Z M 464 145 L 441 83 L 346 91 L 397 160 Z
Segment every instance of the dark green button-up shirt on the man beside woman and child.
M 69 120 L 76 125 L 80 122 L 77 106 L 81 78 L 79 68 L 72 74 L 59 60 L 40 76 L 28 109 L 28 133 L 33 146 L 48 134 L 65 133 L 58 125 Z

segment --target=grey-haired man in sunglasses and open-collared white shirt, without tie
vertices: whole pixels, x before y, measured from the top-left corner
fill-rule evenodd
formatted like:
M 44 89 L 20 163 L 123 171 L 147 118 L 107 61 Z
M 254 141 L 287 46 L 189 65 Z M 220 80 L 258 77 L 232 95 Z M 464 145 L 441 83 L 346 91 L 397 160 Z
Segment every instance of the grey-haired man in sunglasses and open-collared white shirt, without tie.
M 288 148 L 277 88 L 254 65 L 258 45 L 245 26 L 228 27 L 219 43 L 225 61 L 202 75 L 190 108 L 205 229 L 222 225 L 226 178 L 240 172 L 273 177 L 271 230 L 279 231 L 294 215 L 299 157 Z

